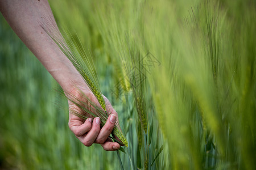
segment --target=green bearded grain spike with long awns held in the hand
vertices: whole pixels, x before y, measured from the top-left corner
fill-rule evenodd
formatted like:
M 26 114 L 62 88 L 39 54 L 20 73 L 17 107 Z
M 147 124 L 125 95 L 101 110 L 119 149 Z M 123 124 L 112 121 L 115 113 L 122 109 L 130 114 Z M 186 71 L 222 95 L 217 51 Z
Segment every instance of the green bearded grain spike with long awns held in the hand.
M 100 117 L 101 127 L 104 126 L 109 116 L 106 111 L 106 103 L 99 88 L 97 74 L 94 71 L 94 65 L 92 62 L 89 61 L 84 49 L 81 48 L 81 45 L 79 44 L 80 42 L 76 42 L 76 40 L 71 35 L 67 35 L 67 33 L 64 32 L 64 36 L 68 39 L 68 41 L 65 41 L 56 23 L 51 18 L 44 17 L 43 22 L 39 22 L 39 24 L 44 29 L 44 31 L 46 31 L 46 33 L 51 37 L 51 39 L 55 41 L 55 43 L 57 44 L 57 46 L 59 46 L 64 55 L 68 57 L 68 59 L 72 62 L 73 66 L 75 66 L 77 71 L 79 71 L 80 75 L 84 78 L 86 84 L 88 84 L 88 87 L 93 92 L 94 96 L 97 98 L 104 111 L 99 108 L 95 103 L 93 103 L 90 99 L 88 99 L 88 97 L 83 94 L 80 89 L 77 90 L 80 91 L 80 95 L 84 98 L 85 101 L 87 101 L 87 104 L 86 102 L 77 99 L 77 97 L 72 96 L 71 94 L 68 94 L 68 100 L 72 101 L 72 103 L 80 107 L 85 113 L 88 113 L 93 117 Z M 81 114 L 77 111 L 73 111 L 73 114 L 85 120 L 86 118 L 88 118 L 86 115 Z M 120 142 L 113 137 L 112 139 L 115 142 L 118 142 L 126 147 L 128 146 L 127 140 L 123 135 L 118 122 L 115 123 L 112 134 L 119 138 L 121 141 Z

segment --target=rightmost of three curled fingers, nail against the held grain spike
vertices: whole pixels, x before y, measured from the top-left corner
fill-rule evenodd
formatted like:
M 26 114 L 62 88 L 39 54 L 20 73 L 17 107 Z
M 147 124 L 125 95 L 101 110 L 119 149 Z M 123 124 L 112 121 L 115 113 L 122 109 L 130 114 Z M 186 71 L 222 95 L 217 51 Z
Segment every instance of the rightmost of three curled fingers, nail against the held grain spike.
M 109 135 L 112 133 L 112 130 L 114 129 L 116 120 L 117 117 L 114 114 L 110 114 L 108 120 L 106 121 L 106 124 L 101 128 L 101 131 L 98 134 L 98 137 L 95 141 L 96 143 L 104 143 L 106 139 L 108 139 Z

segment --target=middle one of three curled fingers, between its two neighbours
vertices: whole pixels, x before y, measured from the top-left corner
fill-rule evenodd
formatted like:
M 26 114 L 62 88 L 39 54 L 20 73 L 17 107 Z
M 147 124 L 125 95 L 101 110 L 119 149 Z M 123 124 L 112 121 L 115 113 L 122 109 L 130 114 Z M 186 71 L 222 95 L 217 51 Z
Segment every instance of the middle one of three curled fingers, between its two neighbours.
M 94 118 L 93 120 L 93 125 L 92 129 L 88 132 L 88 134 L 85 135 L 85 137 L 80 137 L 80 141 L 85 145 L 85 146 L 92 146 L 94 141 L 96 140 L 99 132 L 100 132 L 100 125 L 101 125 L 101 120 L 99 117 Z

